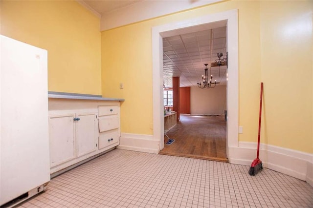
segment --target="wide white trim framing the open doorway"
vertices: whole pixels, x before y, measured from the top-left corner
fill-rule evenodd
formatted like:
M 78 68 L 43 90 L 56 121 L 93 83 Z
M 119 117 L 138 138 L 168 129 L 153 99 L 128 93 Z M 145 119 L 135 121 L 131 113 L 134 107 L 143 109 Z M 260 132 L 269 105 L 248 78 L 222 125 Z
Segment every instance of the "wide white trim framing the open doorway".
M 219 25 L 227 28 L 227 156 L 231 159 L 230 147 L 238 146 L 239 124 L 239 55 L 238 55 L 238 10 L 205 15 L 195 19 L 178 21 L 152 28 L 152 64 L 153 64 L 153 140 L 159 141 L 159 149 L 164 148 L 163 115 L 163 46 L 162 38 L 189 32 L 215 28 Z M 230 161 L 230 160 L 229 160 Z

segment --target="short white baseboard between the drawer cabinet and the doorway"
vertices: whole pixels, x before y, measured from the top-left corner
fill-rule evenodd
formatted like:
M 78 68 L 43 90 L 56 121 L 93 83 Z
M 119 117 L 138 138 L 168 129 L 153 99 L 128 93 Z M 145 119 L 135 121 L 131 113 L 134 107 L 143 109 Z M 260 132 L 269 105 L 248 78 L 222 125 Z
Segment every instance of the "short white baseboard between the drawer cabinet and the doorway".
M 153 140 L 152 135 L 121 133 L 119 146 L 116 148 L 157 154 L 159 142 Z

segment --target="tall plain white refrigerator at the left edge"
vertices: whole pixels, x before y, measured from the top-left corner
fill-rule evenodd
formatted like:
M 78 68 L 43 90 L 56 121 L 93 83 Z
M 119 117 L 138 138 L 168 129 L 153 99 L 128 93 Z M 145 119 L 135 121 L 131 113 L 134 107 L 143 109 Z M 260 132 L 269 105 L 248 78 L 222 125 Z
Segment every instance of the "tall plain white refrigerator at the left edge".
M 47 51 L 0 36 L 0 206 L 50 181 L 47 92 Z

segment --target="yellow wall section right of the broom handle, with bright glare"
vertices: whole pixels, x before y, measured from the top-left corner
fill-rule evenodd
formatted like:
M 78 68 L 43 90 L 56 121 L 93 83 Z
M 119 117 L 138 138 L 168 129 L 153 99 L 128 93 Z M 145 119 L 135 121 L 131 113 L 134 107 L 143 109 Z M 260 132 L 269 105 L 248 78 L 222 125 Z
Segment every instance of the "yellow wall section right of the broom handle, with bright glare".
M 313 153 L 313 1 L 261 1 L 264 140 Z

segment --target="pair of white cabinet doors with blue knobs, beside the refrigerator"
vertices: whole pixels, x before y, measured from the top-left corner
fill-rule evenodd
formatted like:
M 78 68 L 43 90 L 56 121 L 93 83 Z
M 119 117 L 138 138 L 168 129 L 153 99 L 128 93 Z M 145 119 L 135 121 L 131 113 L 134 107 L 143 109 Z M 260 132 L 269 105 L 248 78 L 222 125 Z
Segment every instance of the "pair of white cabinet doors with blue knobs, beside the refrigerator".
M 96 150 L 96 117 L 92 112 L 49 116 L 50 167 Z

